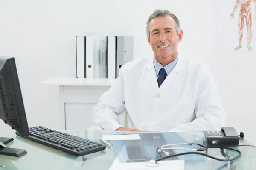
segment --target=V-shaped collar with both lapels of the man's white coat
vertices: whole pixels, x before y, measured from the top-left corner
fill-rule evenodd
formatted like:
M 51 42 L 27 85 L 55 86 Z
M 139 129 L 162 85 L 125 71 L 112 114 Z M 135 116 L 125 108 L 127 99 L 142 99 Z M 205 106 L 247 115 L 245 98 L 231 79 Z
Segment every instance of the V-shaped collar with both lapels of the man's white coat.
M 158 84 L 157 84 L 157 76 L 156 76 L 155 68 L 154 68 L 154 58 L 151 58 L 148 61 L 148 63 L 146 64 L 146 68 L 148 69 L 147 77 L 148 77 L 149 81 L 151 82 L 153 87 L 158 91 L 158 90 L 162 90 L 166 87 L 169 87 L 170 85 L 172 85 L 173 82 L 175 82 L 177 72 L 179 72 L 183 69 L 183 59 L 179 55 L 177 64 L 175 65 L 175 68 L 173 68 L 173 70 L 170 72 L 170 74 L 166 77 L 166 79 L 164 80 L 164 82 L 160 86 L 160 88 L 158 87 Z

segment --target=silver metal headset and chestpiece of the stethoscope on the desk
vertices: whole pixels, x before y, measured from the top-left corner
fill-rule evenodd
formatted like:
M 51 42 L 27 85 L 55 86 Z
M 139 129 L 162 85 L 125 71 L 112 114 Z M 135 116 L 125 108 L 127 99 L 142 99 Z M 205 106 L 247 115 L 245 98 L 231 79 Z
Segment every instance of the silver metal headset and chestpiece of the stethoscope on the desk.
M 184 147 L 171 147 L 171 146 L 177 146 L 177 145 L 187 145 L 192 146 L 195 145 L 195 148 L 184 148 Z M 166 156 L 169 156 L 170 153 L 165 150 L 192 150 L 192 151 L 205 151 L 207 150 L 207 147 L 202 144 L 196 144 L 196 143 L 181 143 L 181 144 L 166 144 L 160 147 L 160 149 L 157 150 L 158 153 L 163 152 Z M 152 159 L 145 163 L 147 167 L 156 167 L 158 164 L 156 163 L 156 160 Z

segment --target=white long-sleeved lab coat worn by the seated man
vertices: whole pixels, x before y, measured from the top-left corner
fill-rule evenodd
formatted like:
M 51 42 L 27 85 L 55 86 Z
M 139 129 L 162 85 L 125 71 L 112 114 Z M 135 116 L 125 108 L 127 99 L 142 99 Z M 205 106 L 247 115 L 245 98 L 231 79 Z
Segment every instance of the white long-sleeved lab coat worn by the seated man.
M 127 110 L 127 126 L 148 131 L 201 132 L 220 130 L 226 112 L 216 94 L 209 67 L 179 55 L 175 68 L 158 88 L 153 57 L 128 62 L 93 108 L 95 123 L 105 130 L 120 125 L 117 115 Z

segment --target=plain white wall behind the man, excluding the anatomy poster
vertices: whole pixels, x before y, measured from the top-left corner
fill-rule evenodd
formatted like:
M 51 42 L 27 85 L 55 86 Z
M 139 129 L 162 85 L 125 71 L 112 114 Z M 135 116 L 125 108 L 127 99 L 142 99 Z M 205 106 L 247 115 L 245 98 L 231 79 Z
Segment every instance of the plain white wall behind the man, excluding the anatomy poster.
M 55 122 L 59 119 L 58 88 L 39 82 L 53 76 L 76 76 L 76 36 L 132 35 L 134 59 L 153 57 L 145 23 L 155 9 L 168 8 L 179 17 L 183 28 L 180 55 L 194 57 L 212 67 L 229 112 L 227 125 L 244 131 L 249 139 L 253 131 L 242 125 L 245 122 L 240 124 L 239 116 L 247 117 L 244 121 L 253 126 L 250 116 L 254 75 L 245 63 L 253 69 L 254 58 L 253 54 L 243 56 L 246 62 L 241 65 L 239 53 L 218 53 L 217 7 L 216 0 L 1 0 L 0 55 L 16 58 L 29 126 L 59 128 L 58 121 Z M 236 97 L 238 94 L 242 98 Z M 5 130 L 9 128 L 0 123 L 0 132 Z M 255 138 L 250 139 L 256 143 Z

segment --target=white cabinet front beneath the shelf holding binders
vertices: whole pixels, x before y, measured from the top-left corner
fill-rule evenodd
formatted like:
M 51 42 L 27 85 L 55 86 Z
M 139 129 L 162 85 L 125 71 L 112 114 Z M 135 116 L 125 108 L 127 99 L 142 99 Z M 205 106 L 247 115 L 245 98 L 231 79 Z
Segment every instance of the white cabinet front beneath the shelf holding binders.
M 64 87 L 64 110 L 66 130 L 87 130 L 95 125 L 93 107 L 110 86 L 67 86 Z M 124 116 L 119 117 L 124 125 Z

